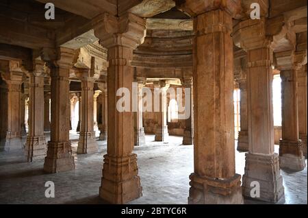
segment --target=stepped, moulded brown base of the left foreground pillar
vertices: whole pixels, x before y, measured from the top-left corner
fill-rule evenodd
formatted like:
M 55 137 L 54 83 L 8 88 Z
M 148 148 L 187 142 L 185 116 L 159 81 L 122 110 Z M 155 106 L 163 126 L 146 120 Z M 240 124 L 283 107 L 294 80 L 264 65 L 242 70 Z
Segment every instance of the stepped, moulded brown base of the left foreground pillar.
M 142 196 L 136 154 L 125 157 L 104 156 L 99 196 L 110 204 L 126 204 Z

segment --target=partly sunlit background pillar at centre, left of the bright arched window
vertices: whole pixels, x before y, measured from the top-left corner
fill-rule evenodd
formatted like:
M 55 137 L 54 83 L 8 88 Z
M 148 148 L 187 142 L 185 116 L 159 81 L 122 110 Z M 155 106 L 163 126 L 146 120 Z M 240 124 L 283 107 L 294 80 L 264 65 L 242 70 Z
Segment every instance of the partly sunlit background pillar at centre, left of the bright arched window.
M 155 132 L 155 141 L 168 141 L 167 90 L 170 85 L 166 84 L 164 80 L 159 80 L 158 82 L 155 82 L 154 86 L 155 89 L 160 89 L 159 101 L 157 101 L 157 103 L 159 102 L 159 112 L 156 112 L 157 128 Z

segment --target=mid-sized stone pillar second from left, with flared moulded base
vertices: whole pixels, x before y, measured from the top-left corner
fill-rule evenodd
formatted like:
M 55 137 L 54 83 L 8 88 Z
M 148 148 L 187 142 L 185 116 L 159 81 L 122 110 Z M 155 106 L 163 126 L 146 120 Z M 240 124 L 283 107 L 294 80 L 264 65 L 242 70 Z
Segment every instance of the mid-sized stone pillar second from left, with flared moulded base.
M 44 159 L 47 144 L 44 136 L 44 62 L 34 60 L 28 73 L 29 86 L 29 133 L 25 145 L 28 162 Z

